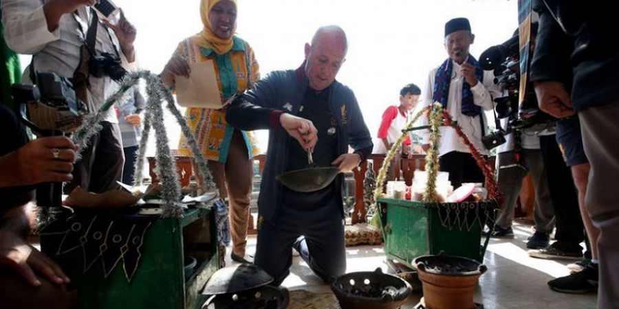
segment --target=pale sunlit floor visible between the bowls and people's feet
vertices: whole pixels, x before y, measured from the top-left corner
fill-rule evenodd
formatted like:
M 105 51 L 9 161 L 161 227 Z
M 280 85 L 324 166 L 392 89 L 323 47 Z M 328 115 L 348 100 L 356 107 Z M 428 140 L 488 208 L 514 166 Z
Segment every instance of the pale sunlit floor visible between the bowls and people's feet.
M 514 233 L 513 239 L 490 241 L 484 258 L 488 271 L 479 279 L 475 302 L 483 304 L 485 309 L 596 308 L 596 294 L 570 295 L 550 290 L 546 282 L 568 275 L 565 265 L 569 261 L 530 258 L 525 243 L 532 233 L 531 227 L 514 223 Z M 255 245 L 256 237 L 250 236 L 248 253 L 255 251 Z M 384 260 L 382 246 L 349 247 L 347 273 L 373 271 L 377 267 L 388 271 L 389 267 Z M 226 264 L 230 263 L 228 255 Z M 329 285 L 313 275 L 301 258 L 293 259 L 290 272 L 282 284 L 289 290 L 330 292 Z M 421 293 L 413 293 L 402 308 L 413 308 L 421 296 Z

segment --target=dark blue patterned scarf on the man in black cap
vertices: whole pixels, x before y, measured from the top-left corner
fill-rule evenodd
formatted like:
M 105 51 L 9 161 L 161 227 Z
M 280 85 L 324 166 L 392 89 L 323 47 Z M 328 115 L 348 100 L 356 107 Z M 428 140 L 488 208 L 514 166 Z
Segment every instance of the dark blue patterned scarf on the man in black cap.
M 477 80 L 479 80 L 479 82 L 483 82 L 484 71 L 482 71 L 479 67 L 477 60 L 473 56 L 469 55 L 466 62 L 475 67 L 475 77 L 477 77 Z M 434 78 L 434 91 L 432 95 L 432 100 L 434 100 L 434 102 L 440 102 L 443 108 L 447 107 L 447 98 L 449 95 L 449 85 L 451 84 L 452 69 L 452 60 L 451 58 L 448 58 L 447 60 L 445 60 L 445 62 L 443 62 L 439 69 L 437 69 L 436 76 Z M 466 80 L 464 80 L 464 83 L 462 84 L 461 113 L 470 117 L 481 115 L 481 107 L 473 103 L 473 93 L 470 92 L 470 84 L 468 84 Z

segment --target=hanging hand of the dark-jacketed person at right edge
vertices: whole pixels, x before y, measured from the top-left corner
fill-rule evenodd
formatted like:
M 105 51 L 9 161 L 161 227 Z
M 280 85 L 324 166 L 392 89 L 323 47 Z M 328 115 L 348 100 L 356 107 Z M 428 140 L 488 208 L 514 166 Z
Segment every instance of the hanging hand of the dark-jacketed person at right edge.
M 554 80 L 543 80 L 534 82 L 535 95 L 539 108 L 550 115 L 563 118 L 574 115 L 576 113 L 572 108 L 572 100 L 569 98 L 569 93 L 565 90 L 565 86 L 561 82 Z

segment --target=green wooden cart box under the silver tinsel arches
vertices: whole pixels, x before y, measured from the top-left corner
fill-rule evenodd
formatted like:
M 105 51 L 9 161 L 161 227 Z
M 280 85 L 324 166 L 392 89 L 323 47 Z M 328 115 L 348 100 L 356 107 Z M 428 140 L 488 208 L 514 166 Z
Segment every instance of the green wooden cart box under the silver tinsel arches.
M 213 212 L 208 208 L 187 210 L 182 218 L 158 218 L 144 236 L 142 256 L 131 282 L 122 265 L 109 273 L 94 264 L 84 271 L 83 251 L 56 255 L 58 235 L 41 235 L 41 249 L 52 256 L 79 290 L 82 309 L 194 309 L 206 297 L 200 292 L 217 269 L 219 250 Z M 197 260 L 187 276 L 184 253 Z

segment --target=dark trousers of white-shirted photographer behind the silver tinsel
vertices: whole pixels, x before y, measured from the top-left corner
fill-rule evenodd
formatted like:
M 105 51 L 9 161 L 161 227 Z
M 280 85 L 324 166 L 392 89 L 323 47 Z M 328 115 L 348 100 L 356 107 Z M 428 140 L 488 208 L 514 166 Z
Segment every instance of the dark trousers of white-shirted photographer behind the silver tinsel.
M 89 141 L 73 170 L 73 181 L 64 187 L 65 194 L 78 185 L 89 192 L 102 193 L 118 187 L 124 154 L 118 124 L 101 122 L 103 128 Z

